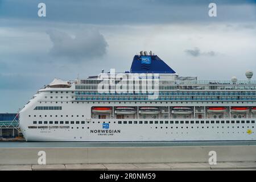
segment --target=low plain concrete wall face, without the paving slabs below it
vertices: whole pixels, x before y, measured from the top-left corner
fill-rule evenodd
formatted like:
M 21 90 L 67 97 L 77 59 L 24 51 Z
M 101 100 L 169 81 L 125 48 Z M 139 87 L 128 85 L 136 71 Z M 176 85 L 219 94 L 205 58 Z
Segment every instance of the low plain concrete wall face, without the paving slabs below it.
M 208 163 L 210 151 L 218 163 L 256 162 L 256 146 L 65 147 L 0 148 L 0 165 L 36 165 L 39 151 L 46 164 Z

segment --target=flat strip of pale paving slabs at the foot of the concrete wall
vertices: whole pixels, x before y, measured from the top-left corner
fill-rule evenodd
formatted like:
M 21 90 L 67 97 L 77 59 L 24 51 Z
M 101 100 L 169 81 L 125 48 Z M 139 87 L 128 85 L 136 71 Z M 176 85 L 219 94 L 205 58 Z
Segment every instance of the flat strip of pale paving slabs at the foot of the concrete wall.
M 256 162 L 217 163 L 210 166 L 208 163 L 150 163 L 150 164 L 52 164 L 52 165 L 9 165 L 0 166 L 0 171 L 56 171 L 56 170 L 83 170 L 83 171 L 170 171 L 170 170 L 253 170 L 256 171 Z

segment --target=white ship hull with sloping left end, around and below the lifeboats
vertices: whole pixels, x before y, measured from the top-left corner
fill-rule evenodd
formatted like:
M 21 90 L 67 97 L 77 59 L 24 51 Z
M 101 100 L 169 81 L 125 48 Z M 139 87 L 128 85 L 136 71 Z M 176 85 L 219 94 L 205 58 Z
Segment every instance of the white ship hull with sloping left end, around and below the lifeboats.
M 43 98 L 38 96 L 37 98 Z M 203 118 L 203 119 L 91 119 L 90 108 L 96 106 L 92 102 L 79 102 L 79 104 L 59 104 L 63 110 L 33 110 L 39 103 L 32 100 L 20 111 L 20 129 L 27 141 L 40 142 L 110 142 L 110 141 L 192 141 L 192 140 L 256 140 L 254 119 L 235 119 L 240 123 L 231 123 L 233 118 Z M 108 104 L 109 105 L 109 104 Z M 118 106 L 122 104 L 115 104 Z M 129 104 L 135 106 L 134 104 Z M 143 105 L 143 104 L 141 104 Z M 153 105 L 153 104 L 152 104 Z M 161 106 L 158 102 L 157 106 Z M 30 115 L 30 117 L 28 117 Z M 36 117 L 34 117 L 34 115 Z M 45 117 L 47 115 L 47 117 Z M 52 115 L 52 117 L 51 117 Z M 57 115 L 57 118 L 55 117 Z M 63 117 L 61 117 L 63 115 Z M 67 117 L 68 115 L 68 117 Z M 72 117 L 73 115 L 73 117 Z M 78 117 L 77 117 L 78 115 Z M 40 117 L 41 116 L 41 117 Z M 75 117 L 75 118 L 74 118 Z M 75 121 L 74 124 L 36 124 L 33 121 Z M 250 123 L 241 123 L 242 120 Z M 255 119 L 256 120 L 256 119 Z M 76 121 L 85 121 L 84 124 L 76 124 Z M 119 124 L 118 121 L 122 123 Z M 126 121 L 126 123 L 124 123 Z M 129 123 L 132 122 L 131 124 Z M 134 121 L 137 121 L 135 124 Z M 142 121 L 143 124 L 139 124 Z M 147 121 L 145 124 L 144 122 Z M 150 123 L 152 121 L 153 123 Z M 163 123 L 160 123 L 163 121 Z M 168 121 L 168 123 L 165 123 Z M 173 123 L 171 123 L 171 121 Z M 175 123 L 178 121 L 179 123 Z M 181 121 L 183 123 L 181 123 Z M 185 123 L 188 121 L 189 123 Z M 191 123 L 191 121 L 193 123 Z M 196 123 L 199 121 L 199 123 Z M 204 123 L 201 123 L 204 121 Z M 214 123 L 206 123 L 214 121 Z M 216 123 L 218 121 L 218 123 Z M 221 124 L 221 121 L 225 121 Z M 229 121 L 229 123 L 226 123 Z M 110 123 L 109 123 L 110 122 Z M 157 124 L 155 122 L 158 122 Z M 104 129 L 103 124 L 109 123 L 109 129 Z M 29 126 L 42 127 L 48 129 L 28 128 Z M 69 127 L 63 129 L 60 127 Z M 49 129 L 49 127 L 58 127 Z M 251 133 L 250 133 L 251 132 Z

